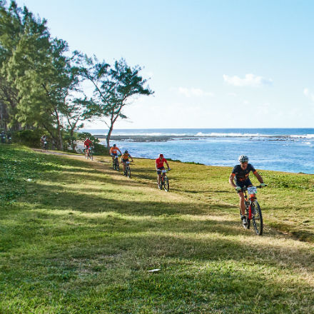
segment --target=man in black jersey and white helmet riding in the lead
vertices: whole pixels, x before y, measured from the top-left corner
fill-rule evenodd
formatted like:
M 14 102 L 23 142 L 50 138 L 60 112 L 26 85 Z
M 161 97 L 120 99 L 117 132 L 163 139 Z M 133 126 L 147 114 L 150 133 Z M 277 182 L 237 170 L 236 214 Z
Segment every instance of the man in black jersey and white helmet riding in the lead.
M 243 221 L 244 224 L 247 222 L 245 221 L 245 205 L 244 205 L 244 194 L 241 191 L 243 186 L 250 187 L 253 186 L 252 182 L 250 182 L 250 178 L 248 178 L 250 171 L 253 172 L 255 177 L 260 182 L 261 186 L 265 186 L 265 183 L 263 182 L 263 178 L 260 176 L 260 174 L 255 170 L 255 168 L 248 163 L 248 156 L 241 155 L 239 156 L 240 165 L 236 165 L 233 167 L 233 171 L 229 177 L 229 183 L 233 188 L 236 188 L 236 191 L 238 191 L 238 195 L 240 198 L 240 210 L 241 210 L 241 221 Z M 234 182 L 236 181 L 236 183 Z

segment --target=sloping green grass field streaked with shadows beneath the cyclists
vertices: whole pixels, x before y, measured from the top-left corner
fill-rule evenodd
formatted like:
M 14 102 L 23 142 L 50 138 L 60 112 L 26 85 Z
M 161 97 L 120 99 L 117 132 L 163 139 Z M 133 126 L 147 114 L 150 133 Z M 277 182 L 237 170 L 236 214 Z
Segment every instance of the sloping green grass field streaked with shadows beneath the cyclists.
M 2 145 L 0 165 L 0 313 L 314 313 L 314 176 L 260 171 L 259 237 L 231 168 L 170 162 L 166 193 L 151 160 L 128 179 Z

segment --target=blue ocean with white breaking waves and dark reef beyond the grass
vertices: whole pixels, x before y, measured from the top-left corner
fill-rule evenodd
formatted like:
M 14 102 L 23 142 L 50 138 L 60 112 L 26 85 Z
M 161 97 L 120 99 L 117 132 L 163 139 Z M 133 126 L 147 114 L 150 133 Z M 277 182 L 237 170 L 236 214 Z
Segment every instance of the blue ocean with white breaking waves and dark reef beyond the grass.
M 85 129 L 106 135 L 106 129 Z M 131 156 L 234 166 L 247 155 L 255 168 L 314 174 L 314 128 L 116 129 L 111 145 Z M 106 145 L 106 140 L 101 139 Z

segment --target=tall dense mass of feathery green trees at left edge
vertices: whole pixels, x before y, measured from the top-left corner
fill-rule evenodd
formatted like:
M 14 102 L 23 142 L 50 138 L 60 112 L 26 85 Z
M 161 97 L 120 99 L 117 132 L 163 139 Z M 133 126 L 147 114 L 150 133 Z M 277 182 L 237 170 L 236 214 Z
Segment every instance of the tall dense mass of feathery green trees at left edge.
M 57 148 L 82 124 L 79 76 L 66 41 L 51 38 L 46 20 L 0 0 L 0 118 L 6 126 L 44 128 Z M 74 96 L 76 93 L 76 96 Z

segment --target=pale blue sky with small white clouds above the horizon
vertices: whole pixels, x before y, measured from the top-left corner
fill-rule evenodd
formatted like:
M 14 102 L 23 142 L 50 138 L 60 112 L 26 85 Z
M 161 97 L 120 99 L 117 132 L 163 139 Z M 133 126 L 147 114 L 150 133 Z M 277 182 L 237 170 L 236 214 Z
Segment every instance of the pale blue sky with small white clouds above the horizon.
M 115 128 L 314 127 L 314 1 L 16 2 L 70 51 L 141 66 L 155 93 Z

